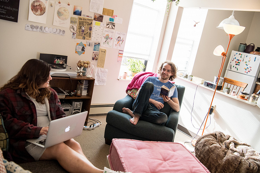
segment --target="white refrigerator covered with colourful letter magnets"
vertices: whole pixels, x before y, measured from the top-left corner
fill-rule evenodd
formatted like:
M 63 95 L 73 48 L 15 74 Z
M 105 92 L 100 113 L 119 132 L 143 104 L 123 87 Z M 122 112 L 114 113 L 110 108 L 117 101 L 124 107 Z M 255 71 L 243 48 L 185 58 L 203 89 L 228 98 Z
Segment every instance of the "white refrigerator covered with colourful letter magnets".
M 250 97 L 255 91 L 255 82 L 259 78 L 259 72 L 259 55 L 232 50 L 224 77 L 247 83 L 244 91 L 249 93 Z

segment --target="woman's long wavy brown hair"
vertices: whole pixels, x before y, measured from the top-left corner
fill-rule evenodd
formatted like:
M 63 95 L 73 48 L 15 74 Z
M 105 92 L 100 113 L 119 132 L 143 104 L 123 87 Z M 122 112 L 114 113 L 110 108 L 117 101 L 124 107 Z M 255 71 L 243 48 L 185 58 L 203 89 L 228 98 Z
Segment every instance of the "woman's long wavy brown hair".
M 50 71 L 51 67 L 47 62 L 29 59 L 14 77 L 1 86 L 0 91 L 5 88 L 22 89 L 43 104 L 45 97 L 50 98 L 51 91 L 49 87 L 40 88 L 40 85 L 48 80 Z

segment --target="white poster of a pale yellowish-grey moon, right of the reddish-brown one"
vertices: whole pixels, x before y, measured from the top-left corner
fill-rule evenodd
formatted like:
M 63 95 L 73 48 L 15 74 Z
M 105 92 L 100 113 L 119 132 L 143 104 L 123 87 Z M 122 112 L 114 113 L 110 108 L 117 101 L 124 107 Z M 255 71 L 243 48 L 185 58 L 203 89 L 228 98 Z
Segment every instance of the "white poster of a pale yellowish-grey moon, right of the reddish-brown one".
M 56 1 L 53 25 L 68 28 L 70 26 L 71 11 L 72 7 L 70 5 Z

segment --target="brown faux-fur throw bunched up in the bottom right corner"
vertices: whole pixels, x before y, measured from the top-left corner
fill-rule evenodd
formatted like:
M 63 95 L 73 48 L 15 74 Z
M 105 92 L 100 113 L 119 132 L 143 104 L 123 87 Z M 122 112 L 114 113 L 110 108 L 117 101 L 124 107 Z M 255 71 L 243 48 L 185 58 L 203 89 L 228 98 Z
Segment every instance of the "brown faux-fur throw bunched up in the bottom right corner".
M 220 131 L 201 136 L 195 154 L 211 173 L 260 173 L 260 153 Z

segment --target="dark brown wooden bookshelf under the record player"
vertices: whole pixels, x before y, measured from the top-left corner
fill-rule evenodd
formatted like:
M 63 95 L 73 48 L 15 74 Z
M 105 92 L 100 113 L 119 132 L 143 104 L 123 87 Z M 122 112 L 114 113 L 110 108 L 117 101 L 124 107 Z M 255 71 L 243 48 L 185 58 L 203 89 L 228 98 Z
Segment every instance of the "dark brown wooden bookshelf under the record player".
M 50 86 L 59 87 L 64 91 L 74 91 L 77 90 L 78 82 L 80 82 L 81 80 L 88 80 L 88 95 L 82 95 L 81 97 L 76 97 L 76 96 L 70 97 L 69 95 L 67 95 L 64 99 L 60 99 L 60 100 L 65 102 L 66 99 L 82 100 L 83 104 L 81 110 L 85 109 L 88 111 L 88 115 L 86 118 L 86 122 L 88 122 L 90 104 L 91 104 L 92 93 L 93 93 L 94 82 L 95 82 L 94 78 L 87 78 L 86 76 L 77 76 L 77 78 L 52 77 L 52 80 L 50 81 Z

